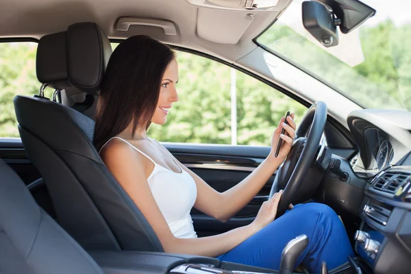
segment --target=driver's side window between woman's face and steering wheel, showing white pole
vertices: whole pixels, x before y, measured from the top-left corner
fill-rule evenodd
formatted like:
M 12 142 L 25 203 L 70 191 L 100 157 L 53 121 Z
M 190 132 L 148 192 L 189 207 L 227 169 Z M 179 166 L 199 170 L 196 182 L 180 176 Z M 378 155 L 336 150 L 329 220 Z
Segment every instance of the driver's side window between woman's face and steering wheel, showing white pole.
M 245 73 L 191 53 L 176 52 L 177 92 L 167 123 L 149 136 L 162 142 L 270 145 L 287 110 L 301 121 L 307 108 Z

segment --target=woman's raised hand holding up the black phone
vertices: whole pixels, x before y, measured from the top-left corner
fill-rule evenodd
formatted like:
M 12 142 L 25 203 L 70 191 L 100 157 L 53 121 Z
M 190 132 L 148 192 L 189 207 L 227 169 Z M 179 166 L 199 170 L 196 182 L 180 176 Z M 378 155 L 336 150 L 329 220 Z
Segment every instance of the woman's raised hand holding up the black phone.
M 273 138 L 271 138 L 271 153 L 270 156 L 275 158 L 275 150 L 277 149 L 278 145 L 278 140 L 279 138 L 282 138 L 282 146 L 279 149 L 278 157 L 277 159 L 280 160 L 285 160 L 288 152 L 290 152 L 292 142 L 294 142 L 295 138 L 295 121 L 294 121 L 294 113 L 292 113 L 290 116 L 287 117 L 287 122 L 288 125 L 284 123 L 285 117 L 282 117 L 282 119 L 279 121 L 279 124 L 277 128 L 274 131 Z M 286 132 L 284 135 L 281 134 L 282 129 L 286 129 Z

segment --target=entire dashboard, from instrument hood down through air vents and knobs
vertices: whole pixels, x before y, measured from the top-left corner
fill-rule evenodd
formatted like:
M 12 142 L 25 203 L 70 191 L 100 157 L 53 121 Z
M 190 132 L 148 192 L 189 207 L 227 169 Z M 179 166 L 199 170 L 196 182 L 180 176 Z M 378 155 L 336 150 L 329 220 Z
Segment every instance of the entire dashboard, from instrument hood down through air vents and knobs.
M 356 253 L 373 273 L 410 273 L 411 112 L 358 110 L 347 123 L 360 149 L 355 165 L 369 177 Z

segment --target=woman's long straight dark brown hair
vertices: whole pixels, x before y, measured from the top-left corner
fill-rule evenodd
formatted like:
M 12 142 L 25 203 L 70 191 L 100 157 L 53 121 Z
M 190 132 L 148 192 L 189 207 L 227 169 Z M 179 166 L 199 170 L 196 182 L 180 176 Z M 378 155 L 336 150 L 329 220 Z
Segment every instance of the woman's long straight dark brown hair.
M 148 129 L 160 94 L 162 76 L 174 52 L 149 36 L 132 36 L 120 43 L 108 62 L 95 115 L 93 143 L 100 149 L 108 139 L 133 123 Z

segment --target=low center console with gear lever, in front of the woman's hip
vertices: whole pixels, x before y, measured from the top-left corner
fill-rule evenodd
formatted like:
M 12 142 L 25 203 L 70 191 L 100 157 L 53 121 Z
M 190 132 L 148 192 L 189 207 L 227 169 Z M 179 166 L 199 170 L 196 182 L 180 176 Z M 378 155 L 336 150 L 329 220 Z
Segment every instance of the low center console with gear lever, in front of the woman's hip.
M 190 256 L 163 252 L 142 251 L 89 251 L 90 256 L 106 274 L 292 274 L 297 258 L 308 245 L 308 237 L 300 235 L 288 242 L 280 258 L 279 271 L 256 266 L 221 262 L 216 258 Z M 321 273 L 350 273 L 349 264 L 327 271 L 325 264 Z

